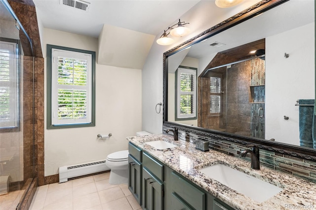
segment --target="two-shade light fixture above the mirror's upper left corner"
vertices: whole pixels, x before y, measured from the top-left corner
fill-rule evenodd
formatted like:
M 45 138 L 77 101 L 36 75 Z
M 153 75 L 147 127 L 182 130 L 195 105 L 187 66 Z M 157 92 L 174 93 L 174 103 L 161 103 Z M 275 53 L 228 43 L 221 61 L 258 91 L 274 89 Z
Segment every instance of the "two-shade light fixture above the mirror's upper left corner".
M 160 38 L 157 39 L 157 43 L 160 45 L 169 45 L 173 43 L 173 39 L 168 37 L 169 34 L 172 36 L 181 37 L 184 35 L 187 35 L 190 33 L 190 29 L 187 27 L 184 27 L 184 25 L 189 23 L 181 22 L 179 19 L 179 22 L 177 24 L 174 24 L 173 26 L 169 27 L 166 31 L 171 30 L 170 33 L 166 34 L 166 31 L 163 32 L 163 34 L 160 36 Z M 178 25 L 176 28 L 173 28 L 175 25 Z

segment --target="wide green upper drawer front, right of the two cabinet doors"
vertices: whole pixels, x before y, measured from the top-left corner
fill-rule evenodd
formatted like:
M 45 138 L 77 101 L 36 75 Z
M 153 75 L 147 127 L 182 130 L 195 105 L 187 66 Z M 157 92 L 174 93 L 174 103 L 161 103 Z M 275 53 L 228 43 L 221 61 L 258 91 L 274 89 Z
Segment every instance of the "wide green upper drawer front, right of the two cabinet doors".
M 196 210 L 205 210 L 206 194 L 176 172 L 171 173 L 172 191 Z

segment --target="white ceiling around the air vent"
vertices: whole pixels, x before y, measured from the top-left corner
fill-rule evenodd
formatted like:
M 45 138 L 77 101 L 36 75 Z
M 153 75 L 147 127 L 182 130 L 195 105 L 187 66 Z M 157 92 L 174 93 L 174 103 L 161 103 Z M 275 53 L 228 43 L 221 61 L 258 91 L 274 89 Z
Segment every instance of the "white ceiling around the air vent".
M 199 0 L 85 0 L 89 11 L 33 0 L 44 28 L 98 37 L 103 25 L 158 35 Z

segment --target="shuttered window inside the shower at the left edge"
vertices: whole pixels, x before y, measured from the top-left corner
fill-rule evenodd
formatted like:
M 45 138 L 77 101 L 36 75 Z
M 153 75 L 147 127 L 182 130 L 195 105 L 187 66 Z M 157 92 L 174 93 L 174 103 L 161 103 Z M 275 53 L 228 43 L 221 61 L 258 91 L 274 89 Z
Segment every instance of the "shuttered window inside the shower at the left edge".
M 0 129 L 19 127 L 18 44 L 0 41 Z M 7 39 L 9 40 L 9 39 Z M 14 40 L 15 41 L 15 40 Z

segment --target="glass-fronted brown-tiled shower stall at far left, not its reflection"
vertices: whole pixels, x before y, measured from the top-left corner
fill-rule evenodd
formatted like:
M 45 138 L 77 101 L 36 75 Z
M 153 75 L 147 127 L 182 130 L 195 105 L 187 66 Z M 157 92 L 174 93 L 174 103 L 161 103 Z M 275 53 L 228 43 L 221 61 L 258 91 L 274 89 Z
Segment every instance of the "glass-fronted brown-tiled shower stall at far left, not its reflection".
M 0 0 L 1 210 L 28 209 L 35 191 L 36 75 L 31 38 L 8 1 Z

